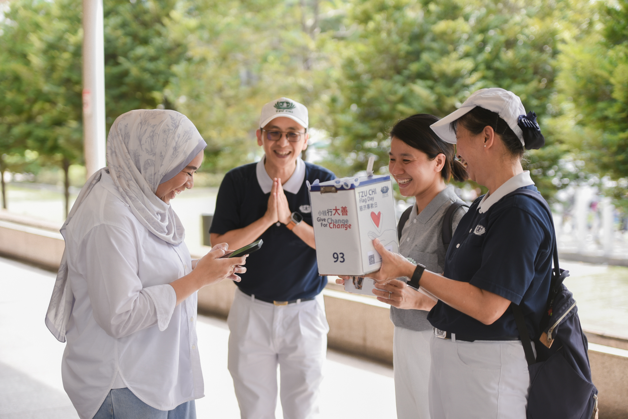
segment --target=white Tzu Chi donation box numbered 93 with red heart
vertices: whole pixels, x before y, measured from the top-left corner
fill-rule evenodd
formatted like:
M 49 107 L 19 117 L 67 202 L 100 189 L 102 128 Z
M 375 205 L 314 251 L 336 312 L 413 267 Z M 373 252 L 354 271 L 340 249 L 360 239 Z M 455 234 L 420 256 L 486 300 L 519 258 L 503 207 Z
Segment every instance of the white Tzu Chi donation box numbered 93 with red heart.
M 362 176 L 308 184 L 318 273 L 362 276 L 381 267 L 379 238 L 399 252 L 390 176 Z

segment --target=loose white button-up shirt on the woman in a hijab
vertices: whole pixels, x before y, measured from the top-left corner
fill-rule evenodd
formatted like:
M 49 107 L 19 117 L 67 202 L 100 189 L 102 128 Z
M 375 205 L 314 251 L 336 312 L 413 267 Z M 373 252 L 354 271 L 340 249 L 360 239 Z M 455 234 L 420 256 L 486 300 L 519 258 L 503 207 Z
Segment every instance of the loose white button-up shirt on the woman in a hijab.
M 80 418 L 91 419 L 111 388 L 127 387 L 160 410 L 203 397 L 197 294 L 175 307 L 170 286 L 192 270 L 185 243 L 149 232 L 103 174 L 65 245 L 75 302 L 62 377 Z

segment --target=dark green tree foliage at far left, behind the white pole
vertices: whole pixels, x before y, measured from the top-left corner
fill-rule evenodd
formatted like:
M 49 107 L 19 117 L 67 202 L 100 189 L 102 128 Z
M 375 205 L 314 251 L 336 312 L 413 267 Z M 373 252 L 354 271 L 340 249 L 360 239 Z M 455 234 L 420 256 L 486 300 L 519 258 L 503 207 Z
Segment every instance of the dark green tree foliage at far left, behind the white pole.
M 105 2 L 107 126 L 131 109 L 172 108 L 164 89 L 187 52 L 181 31 L 169 27 L 177 4 Z M 68 168 L 83 155 L 80 11 L 75 0 L 13 1 L 0 35 L 7 46 L 0 52 L 0 155 L 11 157 L 0 160 L 0 171 L 23 169 L 24 150 L 41 165 L 60 165 L 66 211 Z

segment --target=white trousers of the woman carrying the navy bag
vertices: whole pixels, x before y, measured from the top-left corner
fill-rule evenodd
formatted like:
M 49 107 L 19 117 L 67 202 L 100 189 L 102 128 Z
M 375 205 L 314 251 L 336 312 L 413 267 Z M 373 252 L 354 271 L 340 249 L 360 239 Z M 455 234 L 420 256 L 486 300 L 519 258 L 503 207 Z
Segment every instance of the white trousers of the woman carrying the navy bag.
M 432 419 L 525 419 L 530 376 L 520 340 L 431 341 Z

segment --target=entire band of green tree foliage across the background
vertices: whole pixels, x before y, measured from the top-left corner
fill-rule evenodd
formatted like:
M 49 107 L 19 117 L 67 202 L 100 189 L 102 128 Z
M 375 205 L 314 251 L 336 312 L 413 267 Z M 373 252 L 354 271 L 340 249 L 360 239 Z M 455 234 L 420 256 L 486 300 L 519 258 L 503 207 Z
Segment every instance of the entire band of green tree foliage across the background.
M 342 176 L 364 169 L 369 154 L 386 166 L 399 118 L 443 116 L 499 86 L 539 115 L 547 145 L 528 168 L 549 198 L 584 172 L 627 176 L 626 0 L 613 4 L 107 1 L 107 127 L 131 109 L 181 111 L 209 144 L 203 168 L 220 173 L 260 154 L 260 108 L 288 96 L 327 131 L 324 164 Z M 80 162 L 80 4 L 3 7 L 0 155 L 10 159 L 0 169 L 26 162 L 26 150 L 40 164 Z

